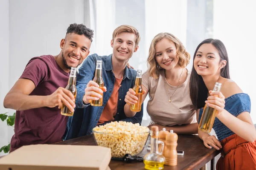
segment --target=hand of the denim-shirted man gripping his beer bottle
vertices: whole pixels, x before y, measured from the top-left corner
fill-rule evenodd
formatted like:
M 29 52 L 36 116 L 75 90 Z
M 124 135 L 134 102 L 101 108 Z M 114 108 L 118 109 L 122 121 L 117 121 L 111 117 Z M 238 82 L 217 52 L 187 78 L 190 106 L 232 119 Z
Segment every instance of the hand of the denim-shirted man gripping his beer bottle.
M 85 94 L 83 97 L 83 102 L 89 104 L 91 100 L 99 100 L 102 98 L 103 92 L 107 91 L 107 88 L 104 87 L 103 90 L 99 88 L 99 85 L 96 82 L 90 80 L 86 88 L 84 89 Z

